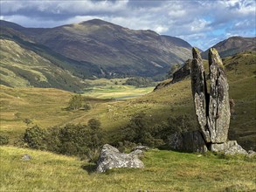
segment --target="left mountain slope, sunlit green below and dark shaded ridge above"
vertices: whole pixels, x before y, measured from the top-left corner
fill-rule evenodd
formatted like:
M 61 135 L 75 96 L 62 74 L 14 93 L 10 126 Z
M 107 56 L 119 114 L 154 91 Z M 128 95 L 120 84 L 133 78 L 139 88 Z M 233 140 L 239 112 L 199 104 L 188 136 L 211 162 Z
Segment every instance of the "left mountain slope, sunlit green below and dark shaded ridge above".
M 102 75 L 99 66 L 66 58 L 45 45 L 38 45 L 24 33 L 14 29 L 1 26 L 0 41 L 3 85 L 80 91 L 85 87 L 82 79 Z

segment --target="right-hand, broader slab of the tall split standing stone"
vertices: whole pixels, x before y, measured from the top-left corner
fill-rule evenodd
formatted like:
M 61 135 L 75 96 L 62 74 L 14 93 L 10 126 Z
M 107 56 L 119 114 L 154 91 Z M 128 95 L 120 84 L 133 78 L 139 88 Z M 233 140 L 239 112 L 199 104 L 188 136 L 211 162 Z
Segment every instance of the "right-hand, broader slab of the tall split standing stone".
M 218 51 L 209 51 L 210 67 L 210 103 L 207 124 L 211 133 L 212 143 L 222 143 L 227 140 L 230 124 L 230 103 L 228 83 L 224 72 L 224 65 L 218 56 Z

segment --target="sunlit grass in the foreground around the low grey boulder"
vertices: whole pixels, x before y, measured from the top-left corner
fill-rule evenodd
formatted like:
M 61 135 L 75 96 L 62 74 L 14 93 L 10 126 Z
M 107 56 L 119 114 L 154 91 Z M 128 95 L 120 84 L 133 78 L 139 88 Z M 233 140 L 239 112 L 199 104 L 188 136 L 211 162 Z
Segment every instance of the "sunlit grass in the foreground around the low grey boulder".
M 74 157 L 0 147 L 1 191 L 254 191 L 256 163 L 239 157 L 150 150 L 143 169 L 93 173 Z M 31 161 L 22 161 L 31 154 Z

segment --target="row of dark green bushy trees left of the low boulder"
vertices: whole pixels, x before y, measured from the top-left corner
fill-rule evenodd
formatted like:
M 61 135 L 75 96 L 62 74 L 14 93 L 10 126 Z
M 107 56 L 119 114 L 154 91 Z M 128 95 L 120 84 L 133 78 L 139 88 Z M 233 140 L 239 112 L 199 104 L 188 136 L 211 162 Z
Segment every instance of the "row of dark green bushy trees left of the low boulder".
M 104 144 L 104 132 L 100 121 L 91 119 L 87 125 L 68 124 L 65 127 L 44 129 L 29 127 L 24 133 L 27 147 L 48 150 L 59 154 L 77 155 L 94 161 Z

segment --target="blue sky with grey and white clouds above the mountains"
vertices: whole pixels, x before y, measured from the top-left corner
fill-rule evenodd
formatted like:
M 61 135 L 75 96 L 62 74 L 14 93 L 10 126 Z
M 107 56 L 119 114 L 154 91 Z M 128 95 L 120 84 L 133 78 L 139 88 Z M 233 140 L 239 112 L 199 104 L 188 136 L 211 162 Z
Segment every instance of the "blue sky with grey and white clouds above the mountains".
M 205 50 L 232 36 L 255 37 L 255 0 L 1 0 L 1 19 L 55 27 L 93 18 L 183 38 Z

